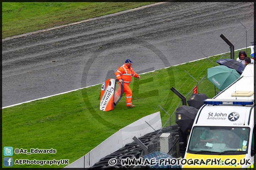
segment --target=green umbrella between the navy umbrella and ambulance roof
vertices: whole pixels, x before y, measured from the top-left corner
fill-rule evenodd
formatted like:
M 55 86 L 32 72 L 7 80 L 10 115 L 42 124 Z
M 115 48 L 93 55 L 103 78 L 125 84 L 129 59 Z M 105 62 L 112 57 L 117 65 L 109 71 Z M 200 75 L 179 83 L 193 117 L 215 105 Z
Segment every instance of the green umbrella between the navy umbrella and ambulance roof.
M 208 80 L 210 80 L 219 90 L 224 90 L 240 77 L 235 70 L 226 66 L 216 66 L 207 69 Z

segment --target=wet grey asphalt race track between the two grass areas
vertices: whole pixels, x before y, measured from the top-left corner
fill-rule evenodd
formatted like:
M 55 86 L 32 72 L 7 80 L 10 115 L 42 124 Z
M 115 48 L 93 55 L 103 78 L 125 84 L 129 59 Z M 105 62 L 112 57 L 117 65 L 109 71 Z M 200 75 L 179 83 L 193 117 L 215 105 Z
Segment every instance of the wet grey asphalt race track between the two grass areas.
M 239 21 L 251 2 L 165 2 L 4 39 L 2 107 L 103 83 L 128 58 L 144 73 L 227 52 Z

